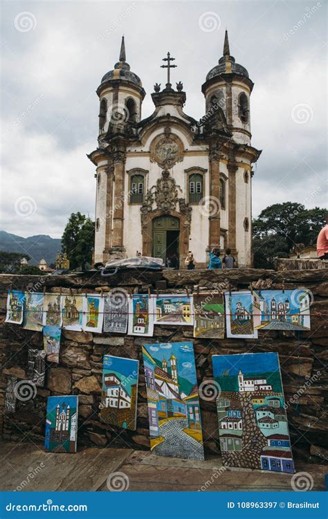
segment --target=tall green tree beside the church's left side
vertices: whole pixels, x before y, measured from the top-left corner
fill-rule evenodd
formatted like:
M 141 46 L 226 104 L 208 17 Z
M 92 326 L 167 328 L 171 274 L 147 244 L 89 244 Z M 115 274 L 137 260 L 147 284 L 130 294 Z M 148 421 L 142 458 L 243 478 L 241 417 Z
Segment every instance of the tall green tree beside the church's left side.
M 80 212 L 72 212 L 62 235 L 62 252 L 69 258 L 70 268 L 85 270 L 92 260 L 95 224 Z

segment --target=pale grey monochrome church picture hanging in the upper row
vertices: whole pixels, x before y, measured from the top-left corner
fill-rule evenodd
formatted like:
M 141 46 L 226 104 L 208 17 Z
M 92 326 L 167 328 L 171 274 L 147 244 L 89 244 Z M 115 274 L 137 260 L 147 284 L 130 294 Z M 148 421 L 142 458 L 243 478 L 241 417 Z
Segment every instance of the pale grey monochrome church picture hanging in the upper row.
M 104 298 L 104 331 L 115 334 L 127 333 L 127 293 L 123 289 L 113 289 Z

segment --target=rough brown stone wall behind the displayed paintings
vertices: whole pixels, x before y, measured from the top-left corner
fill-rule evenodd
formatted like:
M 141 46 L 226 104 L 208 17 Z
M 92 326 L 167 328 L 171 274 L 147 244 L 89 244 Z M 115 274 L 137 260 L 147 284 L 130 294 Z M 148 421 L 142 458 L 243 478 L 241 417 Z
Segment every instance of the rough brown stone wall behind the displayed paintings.
M 0 431 L 4 440 L 33 441 L 42 444 L 46 417 L 46 399 L 55 394 L 79 395 L 78 446 L 120 446 L 149 448 L 145 376 L 141 345 L 156 341 L 192 340 L 197 363 L 197 377 L 201 381 L 212 378 L 213 354 L 239 354 L 252 352 L 277 352 L 280 356 L 282 381 L 289 419 L 289 430 L 296 459 L 322 462 L 327 457 L 327 395 L 328 376 L 325 371 L 328 344 L 328 282 L 327 271 L 284 271 L 260 269 L 233 269 L 230 271 L 163 271 L 163 273 L 119 273 L 115 279 L 101 277 L 99 273 L 66 276 L 0 275 Z M 159 291 L 192 291 L 194 286 L 208 291 L 248 288 L 250 283 L 258 289 L 298 289 L 305 287 L 313 293 L 311 305 L 311 331 L 259 331 L 257 340 L 248 339 L 193 339 L 190 327 L 155 326 L 154 337 L 132 337 L 113 334 L 91 334 L 62 331 L 60 363 L 48 364 L 44 388 L 37 389 L 35 399 L 17 401 L 15 414 L 3 412 L 3 399 L 8 376 L 26 379 L 28 347 L 42 348 L 42 333 L 23 329 L 19 325 L 3 324 L 6 308 L 6 291 L 31 289 L 33 291 L 80 293 L 94 292 L 102 287 L 122 286 L 129 292 L 153 293 Z M 102 424 L 99 418 L 102 356 L 111 354 L 138 358 L 140 376 L 138 390 L 137 430 L 121 430 Z M 319 374 L 320 372 L 320 374 Z M 311 377 L 314 377 L 314 380 Z M 301 390 L 301 391 L 300 391 Z M 295 400 L 293 395 L 299 392 Z M 201 400 L 203 436 L 207 452 L 219 453 L 217 411 L 215 401 Z M 326 446 L 326 448 L 325 448 Z M 296 466 L 297 468 L 297 466 Z

